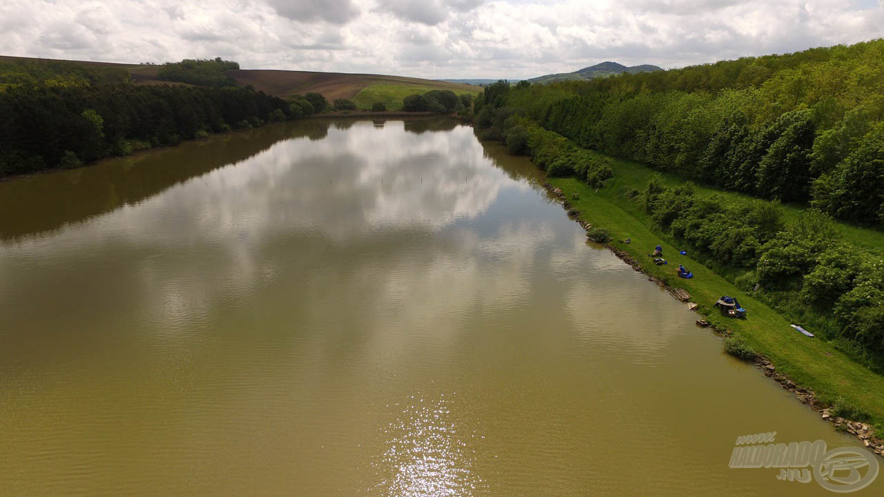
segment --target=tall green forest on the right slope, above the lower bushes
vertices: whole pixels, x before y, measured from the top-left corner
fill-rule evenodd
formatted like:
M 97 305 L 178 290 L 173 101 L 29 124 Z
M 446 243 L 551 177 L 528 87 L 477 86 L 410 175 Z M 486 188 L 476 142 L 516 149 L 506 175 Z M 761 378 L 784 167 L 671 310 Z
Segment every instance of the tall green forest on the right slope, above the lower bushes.
M 884 40 L 518 85 L 505 106 L 661 171 L 857 224 L 884 220 Z

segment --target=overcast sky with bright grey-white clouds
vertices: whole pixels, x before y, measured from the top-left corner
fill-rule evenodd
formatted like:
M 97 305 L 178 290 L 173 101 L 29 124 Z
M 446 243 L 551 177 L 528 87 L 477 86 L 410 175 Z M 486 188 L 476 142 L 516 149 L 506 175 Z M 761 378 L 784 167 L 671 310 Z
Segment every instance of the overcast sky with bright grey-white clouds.
M 884 36 L 884 0 L 0 0 L 0 55 L 521 79 Z

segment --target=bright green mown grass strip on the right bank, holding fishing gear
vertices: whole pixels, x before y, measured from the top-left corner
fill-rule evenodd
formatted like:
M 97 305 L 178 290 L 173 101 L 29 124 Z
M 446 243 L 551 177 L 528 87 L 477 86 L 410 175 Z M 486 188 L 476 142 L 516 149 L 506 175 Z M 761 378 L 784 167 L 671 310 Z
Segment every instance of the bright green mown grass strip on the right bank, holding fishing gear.
M 611 245 L 636 258 L 645 271 L 672 287 L 687 290 L 692 296 L 691 300 L 699 306 L 697 311 L 707 316 L 713 325 L 740 334 L 752 349 L 770 359 L 778 371 L 798 385 L 812 389 L 820 400 L 834 402 L 843 398 L 855 409 L 869 413 L 869 421 L 879 429 L 884 427 L 884 377 L 851 360 L 831 343 L 797 333 L 780 313 L 740 291 L 727 279 L 691 258 L 690 253 L 688 256 L 679 255 L 680 247 L 661 233 L 655 233 L 651 219 L 626 196 L 629 189 L 642 189 L 652 172 L 623 161 L 614 161 L 613 168 L 614 178 L 598 190 L 575 179 L 550 179 L 549 182 L 560 187 L 569 199 L 572 194 L 578 194 L 578 200 L 569 202 L 580 211 L 580 218 L 593 226 L 605 228 L 613 239 Z M 667 181 L 675 184 L 680 179 L 667 176 Z M 710 188 L 700 187 L 698 190 L 713 193 Z M 853 230 L 846 230 L 845 238 L 863 233 Z M 872 233 L 873 239 L 879 234 Z M 631 243 L 622 243 L 627 238 L 631 239 Z M 874 246 L 873 241 L 866 242 Z M 657 266 L 652 263 L 648 254 L 657 244 L 663 246 L 669 264 Z M 675 276 L 678 264 L 684 264 L 693 271 L 694 278 L 680 279 Z M 714 302 L 725 294 L 735 296 L 748 310 L 746 319 L 721 317 L 713 308 Z

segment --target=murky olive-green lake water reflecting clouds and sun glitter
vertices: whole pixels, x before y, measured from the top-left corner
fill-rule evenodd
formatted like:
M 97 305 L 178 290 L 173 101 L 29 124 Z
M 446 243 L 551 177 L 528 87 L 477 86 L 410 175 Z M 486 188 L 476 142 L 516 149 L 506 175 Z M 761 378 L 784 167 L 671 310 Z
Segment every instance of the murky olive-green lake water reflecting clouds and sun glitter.
M 829 494 L 728 468 L 857 444 L 538 180 L 309 121 L 0 183 L 0 495 Z

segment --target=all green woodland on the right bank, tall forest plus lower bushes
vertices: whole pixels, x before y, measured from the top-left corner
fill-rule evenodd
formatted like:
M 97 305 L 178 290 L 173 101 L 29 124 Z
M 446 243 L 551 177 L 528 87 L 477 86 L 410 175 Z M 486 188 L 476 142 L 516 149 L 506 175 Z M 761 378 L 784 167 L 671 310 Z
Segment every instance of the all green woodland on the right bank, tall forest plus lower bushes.
M 881 251 L 834 226 L 884 222 L 884 40 L 601 80 L 499 81 L 477 99 L 475 122 L 552 176 L 592 186 L 610 176 L 579 145 L 759 197 L 659 180 L 625 194 L 737 287 L 884 369 Z M 780 202 L 806 209 L 787 223 Z

